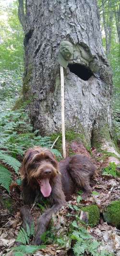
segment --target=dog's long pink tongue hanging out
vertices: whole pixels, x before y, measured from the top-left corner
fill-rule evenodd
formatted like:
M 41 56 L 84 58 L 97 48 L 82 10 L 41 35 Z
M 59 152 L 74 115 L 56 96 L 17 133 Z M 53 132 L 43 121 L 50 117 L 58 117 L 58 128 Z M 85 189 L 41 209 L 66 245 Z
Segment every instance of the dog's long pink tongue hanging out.
M 49 179 L 41 180 L 40 190 L 45 198 L 50 196 L 51 193 L 51 186 L 49 184 Z

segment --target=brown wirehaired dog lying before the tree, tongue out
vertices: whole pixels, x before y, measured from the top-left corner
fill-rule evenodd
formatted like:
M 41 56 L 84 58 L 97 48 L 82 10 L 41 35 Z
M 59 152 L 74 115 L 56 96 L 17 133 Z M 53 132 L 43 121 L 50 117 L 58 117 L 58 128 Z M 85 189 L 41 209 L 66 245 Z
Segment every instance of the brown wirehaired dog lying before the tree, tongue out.
M 40 200 L 47 197 L 52 205 L 38 219 L 35 244 L 42 242 L 40 236 L 47 230 L 52 214 L 57 213 L 66 200 L 70 200 L 76 188 L 84 190 L 83 199 L 91 193 L 90 178 L 95 170 L 96 167 L 84 155 L 67 157 L 58 164 L 47 148 L 36 146 L 26 151 L 20 170 L 26 204 L 20 209 L 23 227 L 26 228 L 26 223 L 32 223 L 28 205 L 34 203 L 36 198 Z

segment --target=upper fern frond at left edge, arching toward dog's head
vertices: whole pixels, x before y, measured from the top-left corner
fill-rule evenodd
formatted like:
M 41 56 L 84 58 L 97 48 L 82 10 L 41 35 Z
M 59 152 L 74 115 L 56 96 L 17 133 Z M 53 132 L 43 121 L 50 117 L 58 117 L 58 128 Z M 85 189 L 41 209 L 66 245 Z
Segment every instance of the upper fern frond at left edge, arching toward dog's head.
M 11 166 L 12 169 L 18 174 L 18 170 L 21 166 L 21 163 L 17 159 L 15 159 L 12 156 L 0 153 L 0 160 L 6 163 L 7 165 Z

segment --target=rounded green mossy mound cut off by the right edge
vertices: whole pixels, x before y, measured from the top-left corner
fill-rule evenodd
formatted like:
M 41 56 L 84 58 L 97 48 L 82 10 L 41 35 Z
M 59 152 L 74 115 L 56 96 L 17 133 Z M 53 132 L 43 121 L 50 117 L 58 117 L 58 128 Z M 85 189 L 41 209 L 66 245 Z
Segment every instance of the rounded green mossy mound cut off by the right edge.
M 120 229 L 120 200 L 113 201 L 105 209 L 104 220 Z

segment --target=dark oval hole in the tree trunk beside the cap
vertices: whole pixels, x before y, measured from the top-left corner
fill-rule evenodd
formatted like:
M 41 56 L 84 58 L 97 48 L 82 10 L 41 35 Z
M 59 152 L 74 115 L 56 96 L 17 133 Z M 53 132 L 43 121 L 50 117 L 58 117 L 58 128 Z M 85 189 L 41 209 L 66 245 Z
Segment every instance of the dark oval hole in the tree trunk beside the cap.
M 89 68 L 78 63 L 69 64 L 68 67 L 72 73 L 74 73 L 84 81 L 88 80 L 93 75 L 93 72 Z

